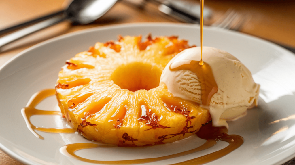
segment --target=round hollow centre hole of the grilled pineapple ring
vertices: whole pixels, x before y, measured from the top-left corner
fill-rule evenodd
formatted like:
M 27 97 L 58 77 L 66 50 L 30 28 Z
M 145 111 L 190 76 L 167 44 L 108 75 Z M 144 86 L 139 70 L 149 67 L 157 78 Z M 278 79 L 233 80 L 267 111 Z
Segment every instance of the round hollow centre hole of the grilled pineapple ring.
M 157 66 L 135 62 L 119 66 L 111 76 L 111 79 L 121 89 L 137 91 L 150 90 L 159 86 L 162 71 Z

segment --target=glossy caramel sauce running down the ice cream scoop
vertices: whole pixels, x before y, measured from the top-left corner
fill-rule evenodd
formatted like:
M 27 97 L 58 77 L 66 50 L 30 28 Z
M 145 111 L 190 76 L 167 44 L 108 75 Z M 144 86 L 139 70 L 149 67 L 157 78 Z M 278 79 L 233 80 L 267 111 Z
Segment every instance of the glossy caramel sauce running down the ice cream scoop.
M 206 62 L 203 65 L 199 65 L 199 62 L 194 60 L 178 60 L 170 65 L 170 70 L 189 70 L 194 72 L 201 84 L 202 104 L 209 106 L 211 97 L 217 92 L 218 87 L 211 66 Z

